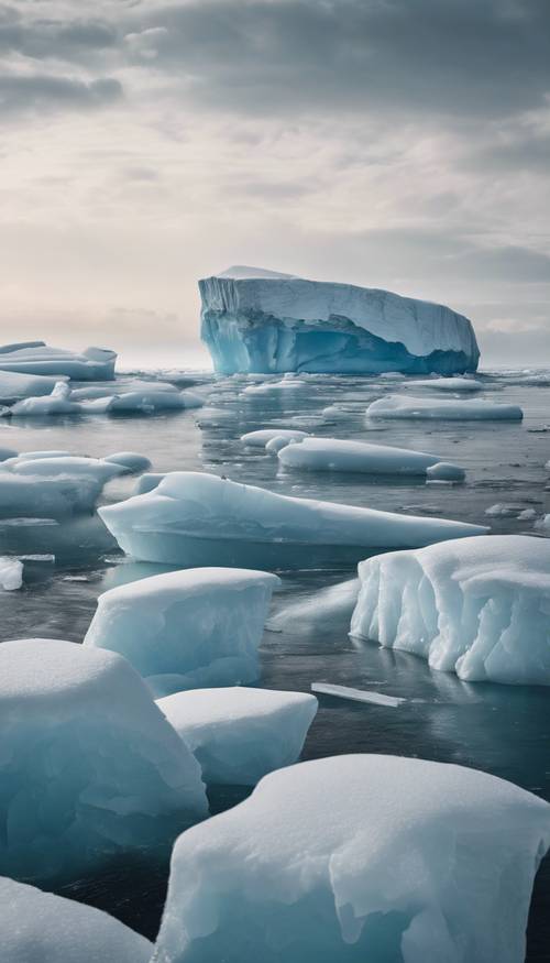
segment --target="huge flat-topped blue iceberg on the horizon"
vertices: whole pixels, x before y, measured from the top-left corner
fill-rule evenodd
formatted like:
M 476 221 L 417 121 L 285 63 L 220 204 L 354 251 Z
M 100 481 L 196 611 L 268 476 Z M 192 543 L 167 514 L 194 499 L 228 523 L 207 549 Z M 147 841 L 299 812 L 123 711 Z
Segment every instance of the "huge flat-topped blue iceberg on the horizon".
M 471 322 L 388 291 L 231 267 L 199 281 L 215 369 L 377 374 L 475 371 Z

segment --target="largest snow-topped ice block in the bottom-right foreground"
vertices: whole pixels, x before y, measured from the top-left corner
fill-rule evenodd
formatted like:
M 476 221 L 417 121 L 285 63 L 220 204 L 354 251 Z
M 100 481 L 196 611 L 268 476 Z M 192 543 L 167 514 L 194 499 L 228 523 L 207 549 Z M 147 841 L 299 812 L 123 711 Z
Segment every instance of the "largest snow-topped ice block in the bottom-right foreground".
M 266 776 L 176 842 L 154 963 L 520 963 L 550 807 L 494 776 L 349 755 Z

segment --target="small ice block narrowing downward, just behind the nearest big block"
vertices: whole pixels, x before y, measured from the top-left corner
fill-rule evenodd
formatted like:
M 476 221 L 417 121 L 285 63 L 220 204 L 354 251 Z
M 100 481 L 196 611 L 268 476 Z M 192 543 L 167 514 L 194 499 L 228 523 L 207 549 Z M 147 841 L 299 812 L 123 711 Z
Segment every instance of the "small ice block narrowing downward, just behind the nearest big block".
M 195 689 L 157 705 L 187 743 L 210 784 L 254 786 L 298 758 L 317 712 L 306 692 Z

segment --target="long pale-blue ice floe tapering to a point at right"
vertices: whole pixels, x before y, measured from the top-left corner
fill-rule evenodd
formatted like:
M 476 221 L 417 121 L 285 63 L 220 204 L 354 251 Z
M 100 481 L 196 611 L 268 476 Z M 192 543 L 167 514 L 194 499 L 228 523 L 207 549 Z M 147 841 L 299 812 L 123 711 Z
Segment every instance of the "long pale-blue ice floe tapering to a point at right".
M 169 472 L 152 491 L 98 513 L 128 555 L 182 567 L 311 568 L 356 561 L 365 549 L 416 548 L 487 530 L 278 495 L 193 471 Z

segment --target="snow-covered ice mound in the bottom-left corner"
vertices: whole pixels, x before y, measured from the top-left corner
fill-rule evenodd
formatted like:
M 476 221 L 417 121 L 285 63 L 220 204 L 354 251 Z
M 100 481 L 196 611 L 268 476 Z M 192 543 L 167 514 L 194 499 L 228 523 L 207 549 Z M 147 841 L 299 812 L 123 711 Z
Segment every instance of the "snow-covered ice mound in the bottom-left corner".
M 153 946 L 73 899 L 0 877 L 2 963 L 148 963 Z

